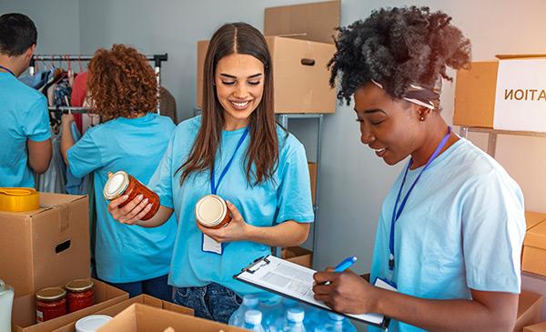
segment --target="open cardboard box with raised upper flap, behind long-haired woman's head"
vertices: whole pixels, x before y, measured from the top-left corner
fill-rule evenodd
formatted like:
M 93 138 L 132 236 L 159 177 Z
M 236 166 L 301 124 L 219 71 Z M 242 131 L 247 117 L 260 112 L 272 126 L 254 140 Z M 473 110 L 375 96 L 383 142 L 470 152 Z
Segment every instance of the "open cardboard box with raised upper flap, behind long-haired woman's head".
M 265 35 L 273 63 L 275 113 L 334 113 L 336 89 L 328 62 L 339 26 L 339 1 L 266 8 Z M 207 41 L 197 42 L 197 107 L 203 106 Z

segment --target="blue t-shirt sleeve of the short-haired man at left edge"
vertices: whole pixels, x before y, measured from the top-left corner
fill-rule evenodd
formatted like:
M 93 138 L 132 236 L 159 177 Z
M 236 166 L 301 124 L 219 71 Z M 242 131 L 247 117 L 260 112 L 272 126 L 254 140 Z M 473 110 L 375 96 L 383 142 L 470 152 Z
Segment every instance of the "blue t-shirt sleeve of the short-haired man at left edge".
M 30 109 L 25 112 L 23 124 L 25 136 L 30 140 L 43 142 L 51 137 L 51 131 L 49 130 L 49 114 L 45 97 L 40 96 Z

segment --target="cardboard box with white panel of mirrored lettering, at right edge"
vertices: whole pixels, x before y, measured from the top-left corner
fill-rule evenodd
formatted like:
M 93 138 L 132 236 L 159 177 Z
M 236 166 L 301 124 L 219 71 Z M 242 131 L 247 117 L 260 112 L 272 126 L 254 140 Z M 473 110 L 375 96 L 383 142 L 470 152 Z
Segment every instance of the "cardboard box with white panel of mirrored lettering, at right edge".
M 497 55 L 457 71 L 453 125 L 546 131 L 546 55 Z

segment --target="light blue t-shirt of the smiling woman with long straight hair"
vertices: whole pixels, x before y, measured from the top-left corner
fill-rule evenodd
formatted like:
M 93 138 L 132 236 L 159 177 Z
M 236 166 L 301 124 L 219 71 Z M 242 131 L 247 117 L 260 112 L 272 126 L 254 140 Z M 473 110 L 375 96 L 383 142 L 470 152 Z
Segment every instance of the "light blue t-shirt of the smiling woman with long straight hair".
M 177 126 L 167 153 L 150 180 L 161 197 L 161 204 L 174 207 L 178 220 L 177 241 L 171 263 L 169 284 L 175 287 L 201 287 L 217 283 L 243 296 L 258 293 L 233 278 L 254 259 L 271 254 L 271 247 L 248 241 L 231 242 L 223 254 L 202 251 L 203 233 L 197 228 L 195 206 L 202 196 L 211 194 L 208 171 L 193 173 L 180 186 L 177 169 L 187 160 L 201 126 L 201 116 Z M 217 152 L 216 178 L 233 156 L 245 128 L 223 131 Z M 237 151 L 231 167 L 217 189 L 217 195 L 231 201 L 245 221 L 254 226 L 273 226 L 287 220 L 309 223 L 314 220 L 305 149 L 292 135 L 278 127 L 279 157 L 275 181 L 258 186 L 248 184 L 244 156 L 250 135 Z

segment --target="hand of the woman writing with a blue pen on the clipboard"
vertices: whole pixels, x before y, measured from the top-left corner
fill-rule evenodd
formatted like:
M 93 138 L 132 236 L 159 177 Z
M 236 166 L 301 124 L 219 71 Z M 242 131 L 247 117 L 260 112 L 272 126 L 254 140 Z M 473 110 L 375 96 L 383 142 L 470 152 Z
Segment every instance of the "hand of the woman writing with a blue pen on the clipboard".
M 347 314 L 374 312 L 378 288 L 359 277 L 354 272 L 333 272 L 328 269 L 317 272 L 313 278 L 315 299 L 324 302 L 332 309 Z M 329 282 L 329 285 L 325 283 Z

